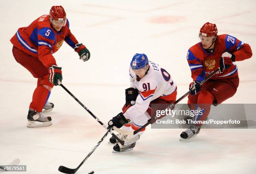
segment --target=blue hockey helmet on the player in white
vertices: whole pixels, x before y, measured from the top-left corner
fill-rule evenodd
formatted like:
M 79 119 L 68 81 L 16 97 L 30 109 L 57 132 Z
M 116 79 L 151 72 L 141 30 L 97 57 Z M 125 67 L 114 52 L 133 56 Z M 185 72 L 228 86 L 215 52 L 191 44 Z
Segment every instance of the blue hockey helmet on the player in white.
M 148 57 L 145 54 L 136 53 L 133 56 L 133 59 L 131 61 L 131 68 L 133 70 L 138 70 L 143 67 L 146 67 L 147 64 L 148 64 Z

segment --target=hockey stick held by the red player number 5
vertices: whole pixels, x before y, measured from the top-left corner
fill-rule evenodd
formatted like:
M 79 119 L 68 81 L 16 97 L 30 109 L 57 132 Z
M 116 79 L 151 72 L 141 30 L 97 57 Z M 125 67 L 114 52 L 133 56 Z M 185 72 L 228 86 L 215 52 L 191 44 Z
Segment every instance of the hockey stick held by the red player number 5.
M 87 110 L 87 112 L 89 112 L 89 114 L 91 114 L 91 116 L 92 116 L 93 118 L 95 118 L 95 119 L 97 120 L 97 122 L 99 122 L 105 129 L 108 129 L 108 127 L 106 127 L 106 125 L 105 125 L 104 123 L 102 123 L 102 122 L 100 121 L 100 119 L 98 119 L 94 114 L 92 114 L 92 112 L 91 112 L 87 107 L 85 107 L 84 104 L 82 104 L 82 103 L 77 99 L 77 97 L 75 97 L 66 87 L 64 87 L 64 85 L 62 85 L 60 81 L 58 82 L 58 84 L 59 84 L 65 91 L 67 91 L 67 93 L 69 93 L 69 95 L 71 95 L 71 97 L 73 97 L 85 110 Z M 118 142 L 120 142 L 120 144 L 124 145 L 124 141 L 123 141 L 123 140 L 121 140 L 120 138 L 118 138 L 112 131 L 110 131 L 110 133 L 111 133 L 111 135 L 112 135 L 113 137 L 115 137 L 115 139 L 118 140 Z

